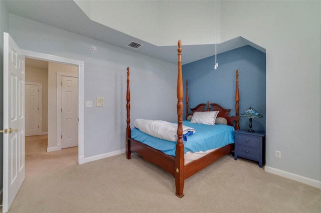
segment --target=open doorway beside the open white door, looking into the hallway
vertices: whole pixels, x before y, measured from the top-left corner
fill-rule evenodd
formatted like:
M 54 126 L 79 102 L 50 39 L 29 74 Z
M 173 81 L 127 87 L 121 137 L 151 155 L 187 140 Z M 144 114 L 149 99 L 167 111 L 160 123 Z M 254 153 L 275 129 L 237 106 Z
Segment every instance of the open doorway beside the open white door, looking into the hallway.
M 56 62 L 49 62 L 39 59 L 33 59 L 26 57 L 25 72 L 26 72 L 26 84 L 25 84 L 25 111 L 26 111 L 26 138 L 25 138 L 25 160 L 26 160 L 26 176 L 41 174 L 45 171 L 56 170 L 59 168 L 66 167 L 68 165 L 77 164 L 78 148 L 74 147 L 78 145 L 77 138 L 77 108 L 78 108 L 78 77 L 77 77 L 77 66 L 71 66 Z M 55 72 L 56 70 L 64 70 L 65 72 L 59 72 L 59 76 L 56 78 L 55 75 L 50 74 L 50 72 Z M 58 72 L 57 72 L 58 73 Z M 63 75 L 61 75 L 63 73 Z M 64 79 L 65 77 L 69 77 Z M 70 76 L 72 76 L 70 80 Z M 54 79 L 53 79 L 54 78 Z M 31 82 L 37 81 L 37 82 Z M 57 82 L 56 82 L 57 81 Z M 61 83 L 63 81 L 63 83 Z M 48 83 L 49 82 L 49 83 Z M 44 85 L 44 92 L 42 92 L 42 84 Z M 49 86 L 48 86 L 49 85 Z M 53 87 L 52 85 L 57 85 L 57 93 L 54 95 L 48 92 L 48 87 Z M 59 85 L 59 86 L 58 86 Z M 63 90 L 61 87 L 63 86 Z M 63 98 L 61 92 L 65 92 L 68 96 Z M 48 102 L 61 99 L 57 102 L 57 107 L 63 109 L 61 114 L 58 116 L 48 115 Z M 60 98 L 61 96 L 61 98 Z M 72 98 L 71 98 L 72 97 Z M 71 102 L 69 100 L 72 100 Z M 42 105 L 44 105 L 44 114 L 42 117 Z M 67 106 L 67 107 L 63 107 Z M 71 108 L 69 108 L 71 106 Z M 72 109 L 72 110 L 71 110 Z M 72 112 L 72 116 L 68 116 L 67 119 L 58 119 L 56 117 L 61 117 L 66 114 L 64 111 Z M 52 110 L 49 110 L 52 111 Z M 55 108 L 56 111 L 56 108 Z M 68 113 L 67 113 L 68 114 Z M 38 119 L 39 117 L 39 119 Z M 49 119 L 48 119 L 49 117 Z M 54 119 L 54 120 L 52 120 Z M 66 128 L 66 123 L 68 122 L 68 127 Z M 42 122 L 43 121 L 43 122 Z M 57 132 L 48 132 L 48 122 L 57 122 Z M 70 122 L 71 121 L 71 122 Z M 56 124 L 55 124 L 56 125 Z M 38 131 L 39 129 L 39 131 Z M 44 131 L 42 131 L 44 129 Z M 61 133 L 61 129 L 66 129 L 67 131 Z M 28 133 L 29 132 L 29 133 Z M 48 135 L 49 133 L 49 135 Z M 52 135 L 50 135 L 50 133 Z M 57 137 L 55 145 L 59 148 L 51 149 L 48 146 L 48 138 L 52 136 L 64 135 L 62 138 Z M 70 136 L 72 135 L 72 137 Z M 63 139 L 67 141 L 72 140 L 73 143 L 64 145 Z M 54 138 L 55 139 L 55 138 Z M 53 140 L 53 139 L 52 139 Z M 62 144 L 62 146 L 60 145 Z M 51 144 L 51 147 L 53 145 Z M 49 148 L 48 148 L 49 147 Z M 67 148 L 61 150 L 62 148 Z M 73 147 L 73 148 L 69 148 Z M 49 150 L 49 152 L 48 152 Z

